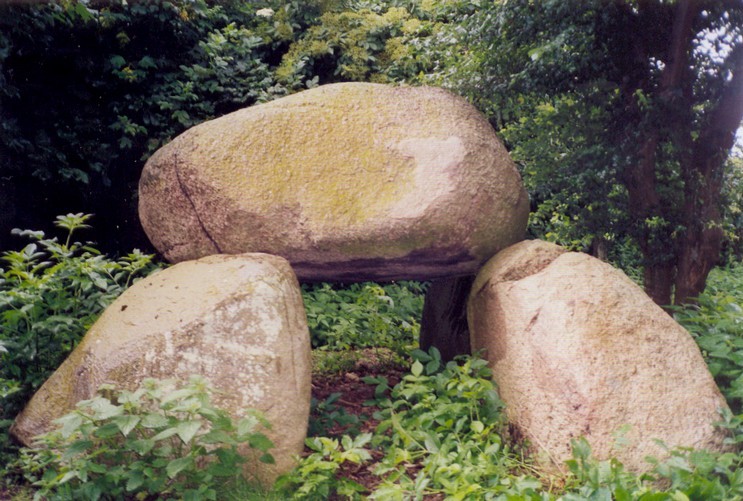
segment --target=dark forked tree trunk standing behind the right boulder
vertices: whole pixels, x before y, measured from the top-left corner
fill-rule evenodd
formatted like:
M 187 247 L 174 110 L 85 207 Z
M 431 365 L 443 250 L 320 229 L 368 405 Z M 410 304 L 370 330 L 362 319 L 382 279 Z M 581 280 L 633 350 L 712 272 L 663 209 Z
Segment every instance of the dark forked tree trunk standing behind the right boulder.
M 676 147 L 683 150 L 680 158 L 685 186 L 681 214 L 685 225 L 683 234 L 675 242 L 670 235 L 668 242 L 659 242 L 653 241 L 649 229 L 644 228 L 639 238 L 645 258 L 645 291 L 662 306 L 672 302 L 680 304 L 699 295 L 704 290 L 709 271 L 717 262 L 722 242 L 717 207 L 722 169 L 743 115 L 743 105 L 740 105 L 743 81 L 738 81 L 743 71 L 738 57 L 733 82 L 718 102 L 717 111 L 712 113 L 700 137 L 691 140 L 694 97 L 693 78 L 689 72 L 695 37 L 694 21 L 702 10 L 702 4 L 696 0 L 677 2 L 668 53 L 656 93 L 658 103 L 664 107 L 662 109 L 680 110 L 682 116 L 688 118 L 688 122 L 668 124 L 669 137 Z M 643 47 L 639 49 L 641 52 L 644 50 Z M 638 89 L 641 90 L 642 86 L 638 85 Z M 638 163 L 625 179 L 630 212 L 639 224 L 662 213 L 663 202 L 656 189 L 656 163 L 661 143 L 660 131 L 651 130 L 639 147 Z

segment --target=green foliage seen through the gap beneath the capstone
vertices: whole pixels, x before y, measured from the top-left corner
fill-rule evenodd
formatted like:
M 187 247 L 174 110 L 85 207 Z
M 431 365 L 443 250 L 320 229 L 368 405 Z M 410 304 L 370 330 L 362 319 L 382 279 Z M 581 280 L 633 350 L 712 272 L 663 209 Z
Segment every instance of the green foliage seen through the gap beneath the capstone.
M 404 353 L 418 342 L 424 284 L 319 284 L 302 290 L 313 348 L 380 347 Z

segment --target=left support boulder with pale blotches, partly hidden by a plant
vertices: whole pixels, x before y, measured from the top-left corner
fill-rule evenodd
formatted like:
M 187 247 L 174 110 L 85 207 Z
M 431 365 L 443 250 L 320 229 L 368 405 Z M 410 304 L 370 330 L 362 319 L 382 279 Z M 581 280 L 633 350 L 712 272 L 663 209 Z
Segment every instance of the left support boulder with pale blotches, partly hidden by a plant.
M 276 256 L 216 255 L 180 263 L 134 284 L 17 417 L 24 444 L 104 383 L 133 390 L 147 377 L 208 378 L 214 403 L 234 418 L 263 411 L 275 467 L 248 465 L 271 480 L 302 452 L 310 408 L 310 344 L 299 285 Z

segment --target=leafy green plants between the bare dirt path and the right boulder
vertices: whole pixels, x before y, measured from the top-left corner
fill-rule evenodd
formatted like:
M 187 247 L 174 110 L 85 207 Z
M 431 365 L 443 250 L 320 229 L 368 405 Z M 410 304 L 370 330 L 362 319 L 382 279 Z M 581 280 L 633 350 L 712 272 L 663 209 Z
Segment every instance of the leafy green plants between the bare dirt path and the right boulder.
M 540 487 L 513 475 L 520 459 L 504 438 L 504 406 L 487 362 L 461 357 L 444 365 L 435 348 L 413 357 L 410 373 L 377 402 L 374 444 L 385 456 L 375 473 L 384 480 L 371 498 L 484 499 Z

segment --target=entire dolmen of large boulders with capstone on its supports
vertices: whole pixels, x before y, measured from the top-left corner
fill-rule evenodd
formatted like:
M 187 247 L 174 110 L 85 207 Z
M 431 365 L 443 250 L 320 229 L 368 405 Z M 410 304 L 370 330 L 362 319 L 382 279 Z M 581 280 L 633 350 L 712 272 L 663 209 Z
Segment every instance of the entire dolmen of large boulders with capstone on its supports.
M 543 468 L 561 471 L 579 436 L 636 471 L 663 455 L 656 439 L 725 447 L 726 404 L 690 335 L 621 271 L 523 241 L 514 163 L 445 90 L 332 84 L 197 125 L 147 161 L 139 213 L 177 264 L 120 296 L 41 387 L 12 428 L 26 445 L 101 384 L 200 374 L 233 416 L 271 421 L 276 465 L 246 466 L 270 481 L 307 430 L 299 282 L 417 279 L 434 280 L 429 328 L 456 318 Z

